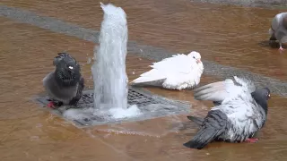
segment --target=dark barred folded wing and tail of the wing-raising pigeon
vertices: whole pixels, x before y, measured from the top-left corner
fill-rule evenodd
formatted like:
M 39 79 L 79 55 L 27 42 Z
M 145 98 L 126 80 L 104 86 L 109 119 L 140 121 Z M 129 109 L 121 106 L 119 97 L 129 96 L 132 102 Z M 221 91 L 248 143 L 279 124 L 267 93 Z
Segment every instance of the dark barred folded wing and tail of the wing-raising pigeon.
M 204 118 L 201 129 L 196 136 L 184 144 L 187 148 L 204 148 L 218 138 L 227 129 L 228 117 L 221 110 L 211 110 Z

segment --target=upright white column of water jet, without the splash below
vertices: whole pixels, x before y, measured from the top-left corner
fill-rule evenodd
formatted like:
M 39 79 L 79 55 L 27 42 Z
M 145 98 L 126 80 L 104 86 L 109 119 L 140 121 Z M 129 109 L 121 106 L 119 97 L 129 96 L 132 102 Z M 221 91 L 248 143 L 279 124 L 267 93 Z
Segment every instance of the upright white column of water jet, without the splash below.
M 126 13 L 113 4 L 101 4 L 100 47 L 95 47 L 91 66 L 94 80 L 94 106 L 100 110 L 127 108 Z

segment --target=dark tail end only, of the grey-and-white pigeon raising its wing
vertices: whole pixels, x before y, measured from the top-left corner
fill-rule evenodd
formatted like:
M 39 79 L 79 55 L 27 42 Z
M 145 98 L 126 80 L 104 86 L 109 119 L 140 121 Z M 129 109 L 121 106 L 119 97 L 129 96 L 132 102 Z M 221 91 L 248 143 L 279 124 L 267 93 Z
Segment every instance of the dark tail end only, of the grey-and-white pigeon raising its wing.
M 213 128 L 201 129 L 192 140 L 189 140 L 183 145 L 187 148 L 202 149 L 217 137 L 217 132 L 218 131 Z

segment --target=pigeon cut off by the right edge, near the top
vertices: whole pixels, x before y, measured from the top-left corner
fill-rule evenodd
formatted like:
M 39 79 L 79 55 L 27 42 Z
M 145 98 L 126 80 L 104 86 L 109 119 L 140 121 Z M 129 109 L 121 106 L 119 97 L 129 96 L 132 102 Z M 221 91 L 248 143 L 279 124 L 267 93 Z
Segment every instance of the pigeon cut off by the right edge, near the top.
M 271 28 L 269 29 L 271 35 L 269 41 L 272 44 L 274 41 L 279 41 L 279 50 L 283 51 L 282 44 L 287 43 L 287 13 L 278 13 L 275 15 Z

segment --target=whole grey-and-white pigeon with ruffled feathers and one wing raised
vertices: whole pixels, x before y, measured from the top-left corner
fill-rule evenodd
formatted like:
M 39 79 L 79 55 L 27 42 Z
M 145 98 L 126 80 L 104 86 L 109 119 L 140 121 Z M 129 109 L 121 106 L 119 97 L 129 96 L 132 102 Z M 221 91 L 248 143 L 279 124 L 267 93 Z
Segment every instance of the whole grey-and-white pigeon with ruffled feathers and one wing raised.
M 204 148 L 213 140 L 228 142 L 256 142 L 254 135 L 265 124 L 268 88 L 256 89 L 245 79 L 217 81 L 195 89 L 198 100 L 212 100 L 217 106 L 208 112 L 204 119 L 187 116 L 200 125 L 196 136 L 185 143 L 188 148 Z

